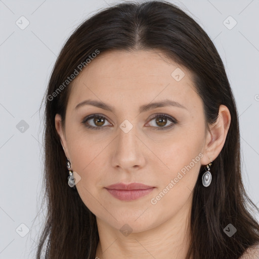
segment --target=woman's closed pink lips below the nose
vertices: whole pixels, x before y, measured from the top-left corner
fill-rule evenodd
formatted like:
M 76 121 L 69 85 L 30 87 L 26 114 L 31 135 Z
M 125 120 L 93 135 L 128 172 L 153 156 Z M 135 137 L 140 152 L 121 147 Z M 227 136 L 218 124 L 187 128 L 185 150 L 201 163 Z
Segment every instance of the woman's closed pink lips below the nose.
M 152 192 L 154 188 L 140 183 L 119 183 L 105 187 L 113 197 L 119 200 L 136 200 Z

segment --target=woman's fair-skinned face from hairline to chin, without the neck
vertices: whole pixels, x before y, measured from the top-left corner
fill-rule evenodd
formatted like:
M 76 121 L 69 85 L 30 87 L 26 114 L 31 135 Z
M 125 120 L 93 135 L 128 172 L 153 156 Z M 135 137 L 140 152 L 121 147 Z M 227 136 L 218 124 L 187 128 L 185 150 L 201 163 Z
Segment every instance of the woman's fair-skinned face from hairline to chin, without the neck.
M 141 232 L 190 209 L 200 166 L 209 163 L 202 100 L 190 77 L 161 53 L 113 51 L 75 78 L 60 135 L 80 176 L 77 191 L 99 222 Z M 106 106 L 77 106 L 85 100 Z M 118 183 L 152 188 L 107 189 Z

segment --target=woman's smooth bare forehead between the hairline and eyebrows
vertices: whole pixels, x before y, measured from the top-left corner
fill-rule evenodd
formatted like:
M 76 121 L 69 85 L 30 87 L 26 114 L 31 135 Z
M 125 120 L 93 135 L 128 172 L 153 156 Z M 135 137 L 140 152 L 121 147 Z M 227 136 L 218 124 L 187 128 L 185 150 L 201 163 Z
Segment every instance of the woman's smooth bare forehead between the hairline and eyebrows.
M 187 68 L 161 52 L 109 51 L 100 53 L 74 79 L 69 103 L 74 107 L 92 98 L 109 99 L 114 104 L 136 102 L 141 105 L 166 97 L 182 102 L 189 99 L 191 104 L 190 96 L 199 98 L 191 77 Z

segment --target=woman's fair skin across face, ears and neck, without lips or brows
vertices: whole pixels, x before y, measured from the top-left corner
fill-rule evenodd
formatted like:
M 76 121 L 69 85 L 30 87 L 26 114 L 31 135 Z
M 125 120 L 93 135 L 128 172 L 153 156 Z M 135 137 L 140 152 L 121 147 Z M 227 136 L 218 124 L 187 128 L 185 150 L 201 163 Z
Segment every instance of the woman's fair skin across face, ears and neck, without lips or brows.
M 180 68 L 185 76 L 177 81 L 171 73 Z M 201 166 L 222 150 L 231 121 L 221 105 L 216 123 L 206 127 L 202 100 L 195 92 L 191 72 L 155 51 L 101 53 L 74 79 L 65 126 L 56 115 L 56 130 L 72 170 L 80 176 L 77 191 L 96 215 L 100 241 L 96 256 L 108 258 L 184 258 L 190 244 L 190 211 L 193 189 Z M 114 106 L 114 111 L 85 105 L 93 99 Z M 164 99 L 186 108 L 165 106 L 140 113 L 139 107 Z M 153 115 L 166 114 L 178 123 L 156 130 Z M 104 125 L 81 123 L 91 114 L 104 116 Z M 152 120 L 151 120 L 152 119 Z M 128 120 L 133 128 L 125 133 L 119 125 Z M 170 125 L 169 119 L 162 127 Z M 156 204 L 156 197 L 178 172 L 202 154 L 173 188 Z M 213 172 L 212 181 L 213 181 Z M 183 174 L 182 174 L 183 175 Z M 114 198 L 104 188 L 115 183 L 138 182 L 155 187 L 133 201 Z M 204 187 L 205 188 L 205 187 Z M 132 231 L 125 236 L 119 230 Z M 130 226 L 130 228 L 128 227 Z

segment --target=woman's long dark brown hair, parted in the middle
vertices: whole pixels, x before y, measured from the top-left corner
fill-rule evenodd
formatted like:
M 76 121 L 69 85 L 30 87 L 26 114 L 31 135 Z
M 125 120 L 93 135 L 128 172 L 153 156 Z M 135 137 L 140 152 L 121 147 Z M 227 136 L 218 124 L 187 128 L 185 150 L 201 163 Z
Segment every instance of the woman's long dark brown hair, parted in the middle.
M 223 62 L 194 19 L 168 2 L 149 1 L 120 3 L 99 11 L 72 33 L 55 63 L 44 99 L 48 211 L 37 259 L 42 252 L 50 259 L 95 258 L 99 241 L 96 217 L 76 189 L 68 186 L 66 156 L 56 132 L 55 115 L 61 115 L 64 125 L 73 81 L 67 85 L 64 82 L 96 50 L 101 54 L 111 50 L 159 50 L 193 73 L 207 125 L 217 120 L 221 104 L 228 107 L 231 124 L 225 145 L 211 167 L 213 181 L 208 188 L 202 186 L 201 168 L 193 190 L 191 246 L 186 259 L 239 258 L 259 242 L 259 225 L 253 216 L 256 206 L 241 179 L 239 122 Z M 57 92 L 62 84 L 62 91 Z M 223 231 L 228 224 L 237 229 L 232 237 Z

